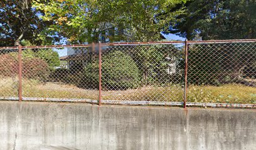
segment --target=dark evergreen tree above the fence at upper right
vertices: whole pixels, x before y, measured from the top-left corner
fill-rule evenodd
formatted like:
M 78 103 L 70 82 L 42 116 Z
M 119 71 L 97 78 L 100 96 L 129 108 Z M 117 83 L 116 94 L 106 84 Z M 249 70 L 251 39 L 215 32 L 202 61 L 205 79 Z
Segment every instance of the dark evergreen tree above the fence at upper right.
M 184 11 L 171 22 L 169 32 L 189 40 L 256 37 L 255 0 L 193 0 L 169 11 Z

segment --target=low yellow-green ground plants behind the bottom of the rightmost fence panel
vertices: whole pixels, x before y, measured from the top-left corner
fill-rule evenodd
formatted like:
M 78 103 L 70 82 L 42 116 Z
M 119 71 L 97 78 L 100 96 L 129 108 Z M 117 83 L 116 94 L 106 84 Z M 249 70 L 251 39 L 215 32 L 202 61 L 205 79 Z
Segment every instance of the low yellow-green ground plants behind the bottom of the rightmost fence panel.
M 189 86 L 188 102 L 256 104 L 255 88 L 241 84 Z

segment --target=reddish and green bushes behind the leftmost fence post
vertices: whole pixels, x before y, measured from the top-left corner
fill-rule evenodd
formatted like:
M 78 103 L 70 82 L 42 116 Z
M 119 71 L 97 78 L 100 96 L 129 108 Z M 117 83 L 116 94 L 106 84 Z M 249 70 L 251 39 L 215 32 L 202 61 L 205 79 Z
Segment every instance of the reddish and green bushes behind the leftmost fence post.
M 52 49 L 40 51 L 26 49 L 22 54 L 24 78 L 47 81 L 53 67 L 60 65 L 58 53 Z M 0 55 L 0 71 L 1 76 L 16 76 L 18 74 L 18 53 L 12 52 Z

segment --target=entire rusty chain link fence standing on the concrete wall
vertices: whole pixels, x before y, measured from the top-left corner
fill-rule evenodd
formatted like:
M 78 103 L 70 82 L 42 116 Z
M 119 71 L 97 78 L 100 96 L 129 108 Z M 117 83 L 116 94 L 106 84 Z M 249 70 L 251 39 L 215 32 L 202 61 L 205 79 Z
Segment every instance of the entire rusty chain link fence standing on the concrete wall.
M 255 43 L 0 47 L 0 99 L 255 108 Z

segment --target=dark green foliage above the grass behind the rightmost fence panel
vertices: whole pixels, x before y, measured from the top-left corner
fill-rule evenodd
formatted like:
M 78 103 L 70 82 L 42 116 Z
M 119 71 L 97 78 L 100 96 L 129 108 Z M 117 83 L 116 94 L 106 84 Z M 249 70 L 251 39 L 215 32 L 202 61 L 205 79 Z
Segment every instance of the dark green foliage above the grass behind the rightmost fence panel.
M 188 82 L 196 85 L 247 84 L 255 79 L 255 44 L 195 44 L 189 46 Z M 250 83 L 250 82 L 249 82 Z M 251 81 L 252 83 L 252 81 Z

